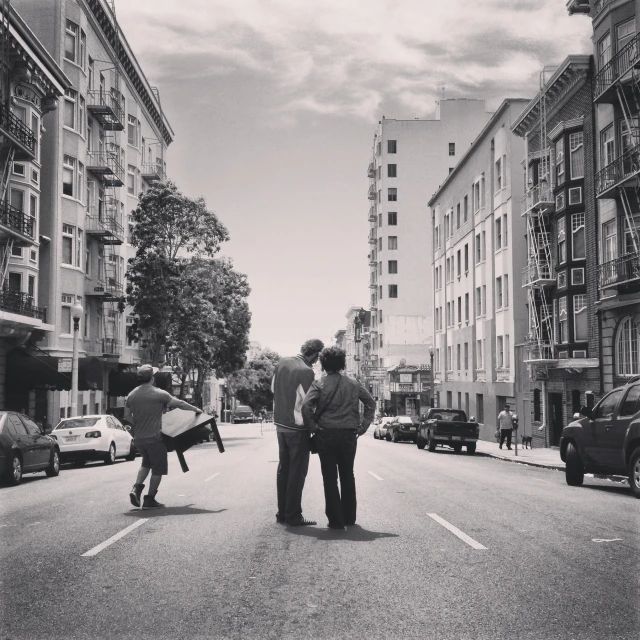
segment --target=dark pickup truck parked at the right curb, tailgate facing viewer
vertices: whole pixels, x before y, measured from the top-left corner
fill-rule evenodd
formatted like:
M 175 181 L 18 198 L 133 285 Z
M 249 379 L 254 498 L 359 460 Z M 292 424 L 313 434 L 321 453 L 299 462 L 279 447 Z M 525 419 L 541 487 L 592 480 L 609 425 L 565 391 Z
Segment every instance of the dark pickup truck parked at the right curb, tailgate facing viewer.
M 435 451 L 438 445 L 447 445 L 456 453 L 466 446 L 467 453 L 476 452 L 476 442 L 480 436 L 480 425 L 474 418 L 467 420 L 461 409 L 429 409 L 420 420 L 416 444 L 418 449 L 428 447 Z

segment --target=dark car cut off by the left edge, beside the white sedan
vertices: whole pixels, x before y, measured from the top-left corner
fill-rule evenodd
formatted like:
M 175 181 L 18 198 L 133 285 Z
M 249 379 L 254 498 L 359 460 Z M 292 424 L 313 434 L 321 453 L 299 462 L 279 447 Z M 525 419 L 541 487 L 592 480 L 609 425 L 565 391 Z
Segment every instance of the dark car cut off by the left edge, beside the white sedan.
M 28 416 L 0 411 L 0 476 L 9 484 L 20 484 L 25 473 L 60 473 L 60 449 L 53 438 Z

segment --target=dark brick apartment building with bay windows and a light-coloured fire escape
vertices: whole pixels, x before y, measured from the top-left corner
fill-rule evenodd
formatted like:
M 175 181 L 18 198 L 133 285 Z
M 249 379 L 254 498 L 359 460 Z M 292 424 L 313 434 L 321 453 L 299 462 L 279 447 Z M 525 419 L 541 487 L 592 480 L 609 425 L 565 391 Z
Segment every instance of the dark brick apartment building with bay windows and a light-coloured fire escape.
M 527 353 L 531 420 L 540 444 L 600 393 L 590 56 L 542 73 L 513 124 L 526 145 Z

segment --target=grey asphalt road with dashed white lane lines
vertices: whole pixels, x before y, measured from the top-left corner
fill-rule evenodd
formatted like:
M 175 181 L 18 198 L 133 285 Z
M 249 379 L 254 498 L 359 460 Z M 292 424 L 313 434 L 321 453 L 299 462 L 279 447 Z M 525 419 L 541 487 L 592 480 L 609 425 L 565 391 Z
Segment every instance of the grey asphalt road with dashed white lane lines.
M 640 637 L 627 485 L 568 487 L 558 471 L 370 430 L 358 524 L 326 528 L 312 456 L 303 507 L 318 526 L 286 528 L 275 433 L 221 432 L 227 451 L 191 449 L 189 473 L 170 454 L 162 511 L 129 504 L 139 458 L 0 489 L 0 640 Z

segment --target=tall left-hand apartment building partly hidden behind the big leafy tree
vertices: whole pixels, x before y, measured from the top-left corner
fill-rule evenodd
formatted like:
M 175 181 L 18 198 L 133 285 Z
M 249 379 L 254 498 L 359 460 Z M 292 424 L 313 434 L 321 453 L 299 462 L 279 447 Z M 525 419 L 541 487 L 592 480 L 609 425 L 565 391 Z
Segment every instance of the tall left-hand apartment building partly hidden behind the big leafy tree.
M 38 300 L 55 330 L 40 348 L 53 368 L 71 358 L 71 308 L 80 304 L 78 411 L 101 412 L 126 391 L 121 374 L 144 358 L 127 338 L 133 318 L 122 302 L 134 251 L 129 212 L 140 192 L 165 179 L 173 132 L 112 0 L 13 4 L 71 81 L 44 118 Z M 67 390 L 31 392 L 38 417 L 55 424 L 70 413 Z

